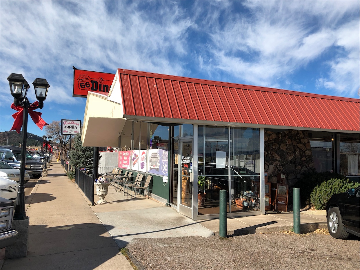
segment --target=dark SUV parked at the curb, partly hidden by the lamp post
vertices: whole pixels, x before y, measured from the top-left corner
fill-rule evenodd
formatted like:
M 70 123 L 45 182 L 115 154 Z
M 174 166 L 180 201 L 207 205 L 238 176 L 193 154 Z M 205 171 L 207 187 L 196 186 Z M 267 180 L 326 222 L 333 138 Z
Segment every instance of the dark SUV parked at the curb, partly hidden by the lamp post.
M 0 146 L 0 160 L 9 163 L 14 168 L 20 169 L 21 148 L 13 145 Z M 40 178 L 44 163 L 36 161 L 31 154 L 26 151 L 25 171 L 30 177 Z

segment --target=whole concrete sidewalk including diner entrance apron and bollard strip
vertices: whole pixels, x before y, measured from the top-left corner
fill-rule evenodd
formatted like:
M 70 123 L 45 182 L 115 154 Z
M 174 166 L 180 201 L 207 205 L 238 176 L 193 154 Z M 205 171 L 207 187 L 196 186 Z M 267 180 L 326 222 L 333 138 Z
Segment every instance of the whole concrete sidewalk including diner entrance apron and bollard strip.
M 2 269 L 131 270 L 119 248 L 134 238 L 210 237 L 219 233 L 219 219 L 193 221 L 171 207 L 144 197 L 134 200 L 111 186 L 105 199 L 109 203 L 91 206 L 61 164 L 53 162 L 48 177 L 38 181 L 26 201 L 28 255 L 5 260 Z M 228 218 L 228 236 L 292 228 L 292 213 Z M 302 232 L 318 228 L 326 228 L 324 211 L 320 215 L 301 214 Z

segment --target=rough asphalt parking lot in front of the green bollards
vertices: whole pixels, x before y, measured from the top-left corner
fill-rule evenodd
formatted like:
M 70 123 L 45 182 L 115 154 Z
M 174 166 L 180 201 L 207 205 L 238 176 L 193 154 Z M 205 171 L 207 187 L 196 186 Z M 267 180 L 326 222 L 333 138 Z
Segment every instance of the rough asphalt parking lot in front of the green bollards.
M 127 252 L 141 270 L 359 269 L 359 237 L 339 240 L 326 231 L 136 239 Z

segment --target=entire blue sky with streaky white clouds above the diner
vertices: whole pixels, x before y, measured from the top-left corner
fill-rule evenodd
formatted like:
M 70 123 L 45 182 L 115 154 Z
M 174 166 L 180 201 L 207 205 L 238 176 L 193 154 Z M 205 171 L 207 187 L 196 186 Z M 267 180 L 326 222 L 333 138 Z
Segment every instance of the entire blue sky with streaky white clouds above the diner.
M 359 98 L 359 40 L 358 0 L 1 0 L 0 131 L 13 124 L 11 73 L 48 80 L 46 122 L 83 121 L 72 66 Z M 44 131 L 29 117 L 28 132 Z

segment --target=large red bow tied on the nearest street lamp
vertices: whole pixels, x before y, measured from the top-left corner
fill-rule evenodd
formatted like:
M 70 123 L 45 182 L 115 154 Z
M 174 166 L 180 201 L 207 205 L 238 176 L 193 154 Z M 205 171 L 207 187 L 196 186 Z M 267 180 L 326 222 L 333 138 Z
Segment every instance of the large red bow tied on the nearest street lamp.
M 49 124 L 46 123 L 44 121 L 44 119 L 41 118 L 41 112 L 35 112 L 34 110 L 38 108 L 39 102 L 35 101 L 34 103 L 30 104 L 30 108 L 28 108 L 28 113 L 30 114 L 30 117 L 32 119 L 32 121 L 34 121 L 34 123 L 40 127 L 40 129 L 42 130 L 42 128 L 44 126 L 48 126 Z M 15 119 L 13 126 L 10 130 L 16 130 L 16 132 L 20 133 L 21 127 L 22 127 L 22 123 L 23 123 L 23 110 L 24 108 L 21 106 L 17 106 L 14 103 L 11 104 L 10 108 L 18 111 L 16 113 L 14 113 L 12 116 Z

